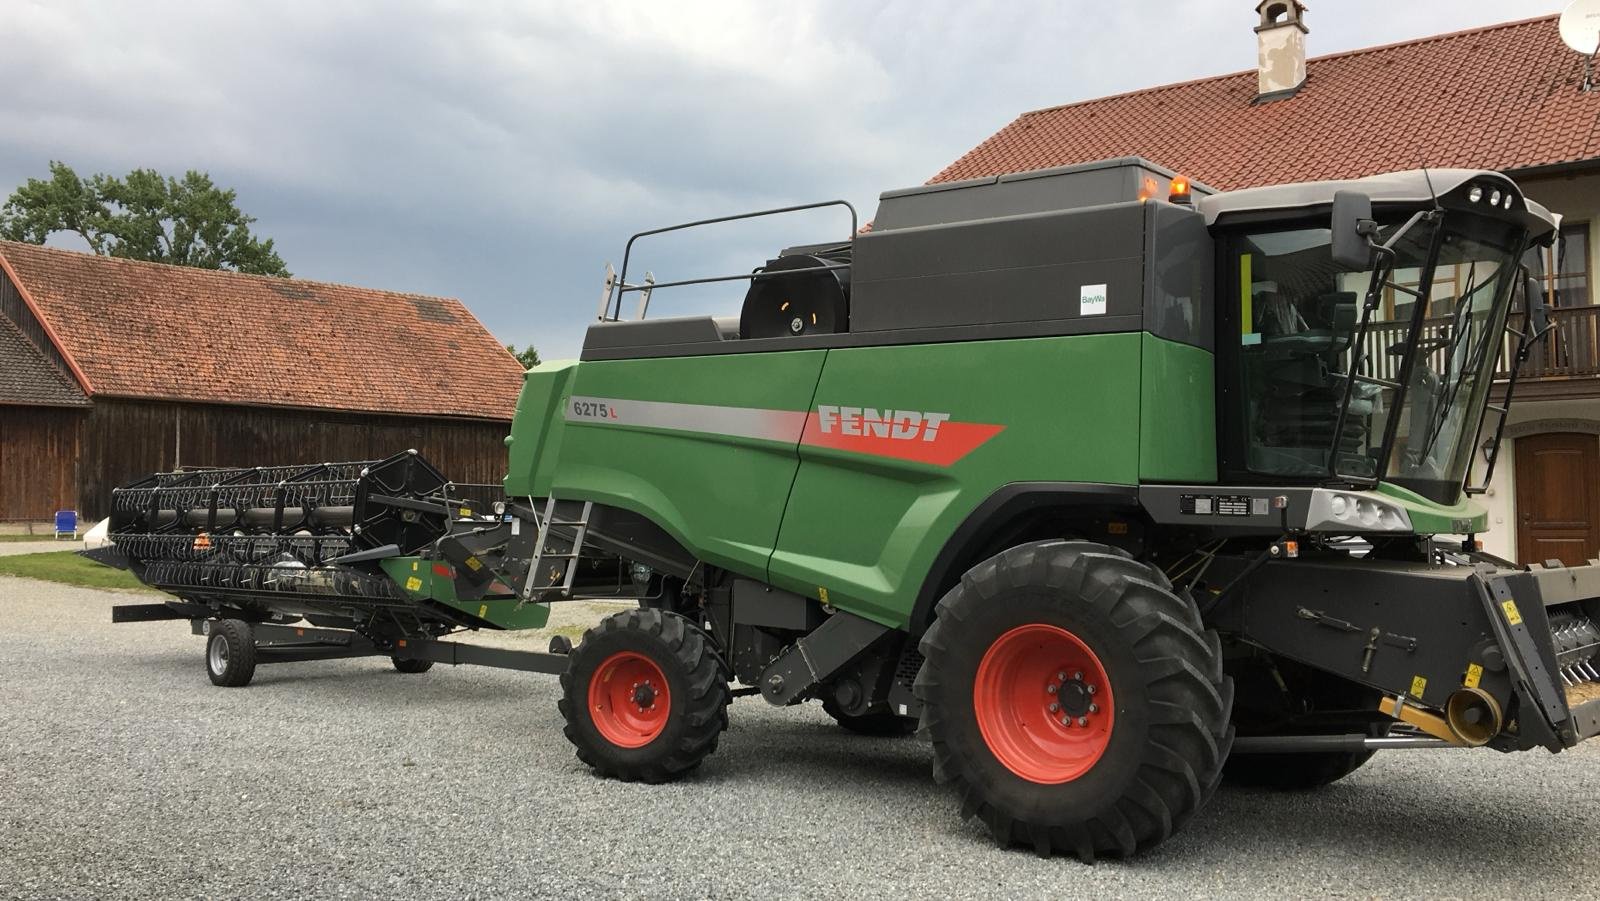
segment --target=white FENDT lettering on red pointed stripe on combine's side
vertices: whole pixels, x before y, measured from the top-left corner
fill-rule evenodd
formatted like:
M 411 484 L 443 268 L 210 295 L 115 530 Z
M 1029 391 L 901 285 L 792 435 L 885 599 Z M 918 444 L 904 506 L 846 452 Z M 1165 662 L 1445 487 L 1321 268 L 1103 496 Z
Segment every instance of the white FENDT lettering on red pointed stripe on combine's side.
M 806 416 L 800 443 L 950 466 L 1002 429 L 1005 426 L 955 422 L 949 413 L 819 403 Z

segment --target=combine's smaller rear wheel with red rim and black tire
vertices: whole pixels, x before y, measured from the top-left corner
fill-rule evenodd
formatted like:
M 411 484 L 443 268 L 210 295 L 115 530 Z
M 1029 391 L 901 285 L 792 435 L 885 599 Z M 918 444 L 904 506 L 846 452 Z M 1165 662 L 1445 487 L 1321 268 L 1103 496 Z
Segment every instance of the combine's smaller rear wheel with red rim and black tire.
M 602 776 L 664 783 L 699 767 L 728 727 L 728 674 L 694 623 L 627 610 L 589 629 L 562 674 L 578 759 Z

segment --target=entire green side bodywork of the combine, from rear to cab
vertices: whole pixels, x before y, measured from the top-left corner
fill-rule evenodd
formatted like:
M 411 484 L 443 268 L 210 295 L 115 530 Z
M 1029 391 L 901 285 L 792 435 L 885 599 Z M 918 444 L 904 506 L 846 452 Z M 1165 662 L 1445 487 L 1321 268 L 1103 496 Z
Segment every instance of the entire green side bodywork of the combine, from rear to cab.
M 547 363 L 526 376 L 506 488 L 634 511 L 699 560 L 904 626 L 1008 483 L 1214 483 L 1213 379 L 1210 352 L 1149 333 Z M 819 410 L 862 408 L 981 438 L 933 461 L 818 440 Z M 1486 519 L 1379 490 L 1421 533 Z

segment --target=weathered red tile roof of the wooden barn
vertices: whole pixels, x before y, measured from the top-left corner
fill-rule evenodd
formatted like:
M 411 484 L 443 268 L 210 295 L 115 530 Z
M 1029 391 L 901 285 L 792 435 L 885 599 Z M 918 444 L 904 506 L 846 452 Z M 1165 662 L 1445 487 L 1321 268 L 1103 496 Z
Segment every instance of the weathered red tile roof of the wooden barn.
M 522 365 L 461 301 L 0 242 L 90 394 L 510 419 Z

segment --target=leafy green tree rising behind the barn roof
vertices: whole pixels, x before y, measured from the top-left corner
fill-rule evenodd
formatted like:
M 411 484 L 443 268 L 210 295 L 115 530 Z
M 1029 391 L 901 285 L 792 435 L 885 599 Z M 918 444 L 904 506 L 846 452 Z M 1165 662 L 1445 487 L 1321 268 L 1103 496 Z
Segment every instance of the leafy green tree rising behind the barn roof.
M 102 256 L 288 278 L 272 240 L 250 234 L 256 219 L 235 200 L 194 170 L 181 179 L 155 170 L 82 179 L 51 160 L 48 181 L 27 179 L 0 206 L 0 237 L 45 243 L 56 232 L 74 232 Z

